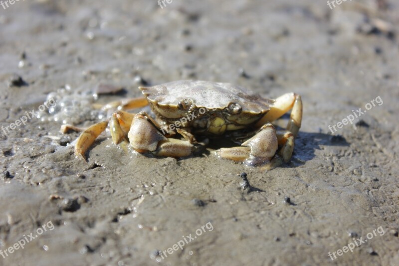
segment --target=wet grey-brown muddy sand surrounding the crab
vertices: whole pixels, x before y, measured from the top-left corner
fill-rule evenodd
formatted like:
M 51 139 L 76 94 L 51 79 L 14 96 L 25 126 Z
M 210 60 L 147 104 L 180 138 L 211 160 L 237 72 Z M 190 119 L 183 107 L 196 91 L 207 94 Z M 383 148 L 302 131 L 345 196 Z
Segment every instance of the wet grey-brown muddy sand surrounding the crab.
M 334 4 L 8 0 L 0 265 L 398 266 L 399 1 Z M 59 132 L 180 79 L 300 94 L 291 161 L 246 167 L 215 142 L 181 160 L 125 153 L 108 131 L 86 163 L 79 133 Z

